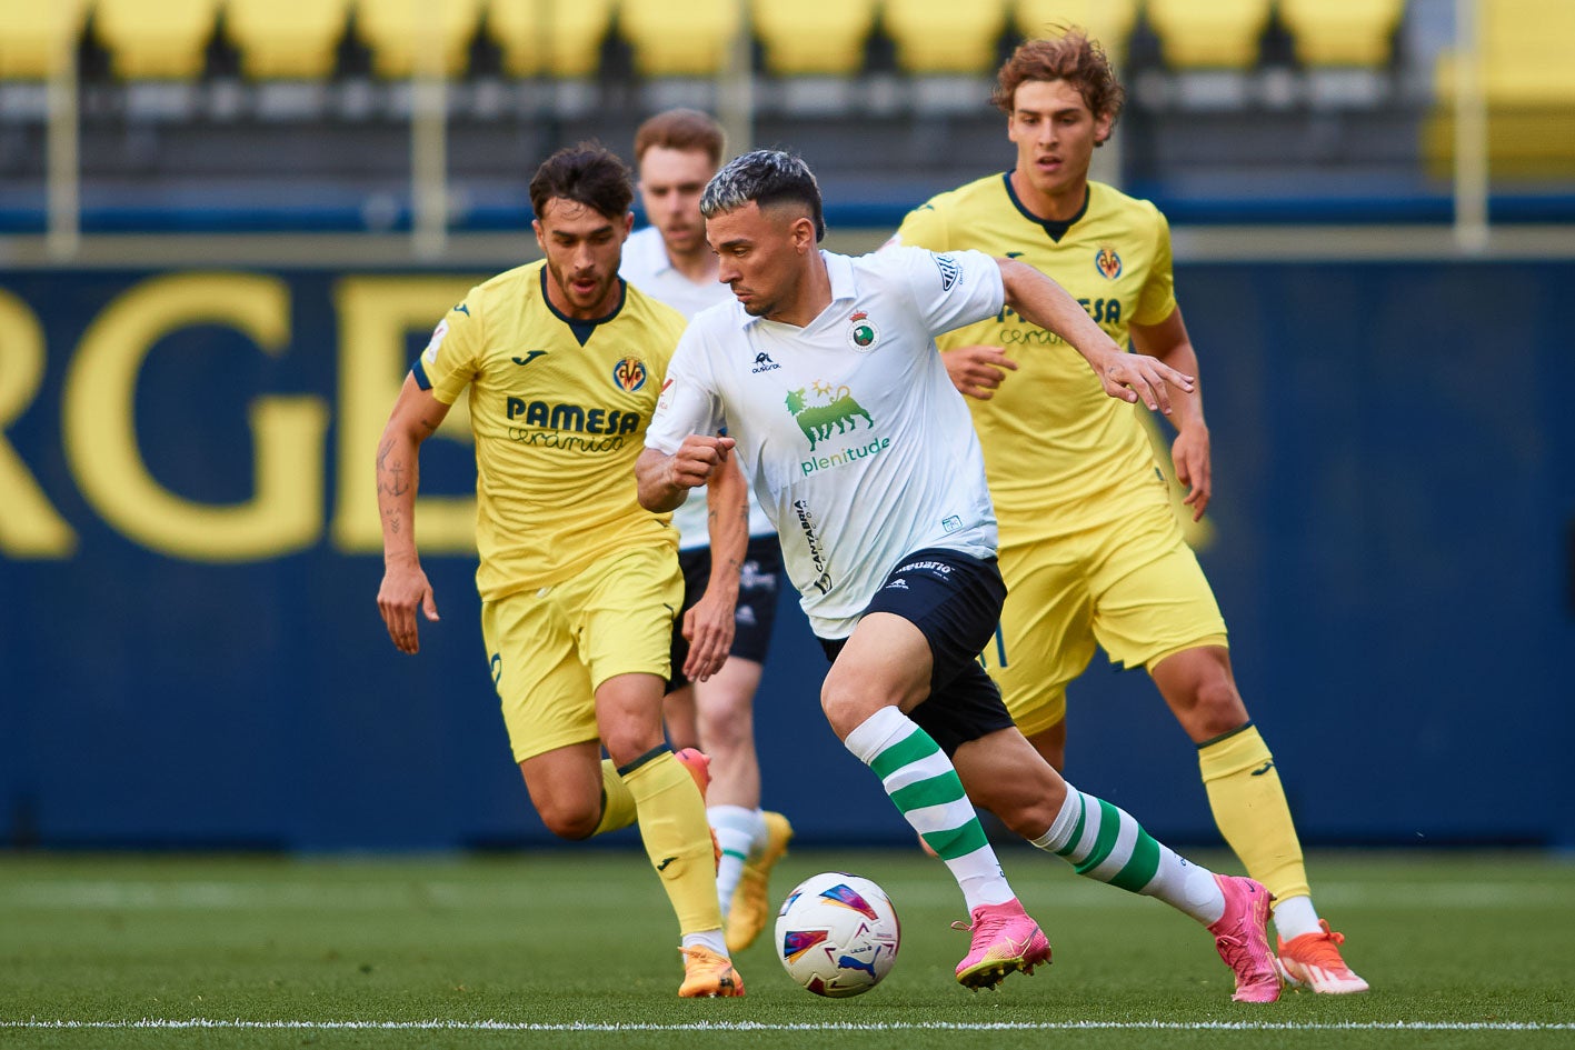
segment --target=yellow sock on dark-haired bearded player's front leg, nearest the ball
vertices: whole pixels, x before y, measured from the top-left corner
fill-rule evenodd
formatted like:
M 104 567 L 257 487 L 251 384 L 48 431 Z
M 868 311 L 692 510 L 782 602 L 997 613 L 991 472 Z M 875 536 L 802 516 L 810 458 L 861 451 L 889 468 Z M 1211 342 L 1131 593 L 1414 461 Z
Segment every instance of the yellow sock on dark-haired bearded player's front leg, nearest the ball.
M 639 837 L 679 916 L 679 932 L 721 929 L 710 825 L 695 778 L 665 745 L 619 775 L 639 811 Z

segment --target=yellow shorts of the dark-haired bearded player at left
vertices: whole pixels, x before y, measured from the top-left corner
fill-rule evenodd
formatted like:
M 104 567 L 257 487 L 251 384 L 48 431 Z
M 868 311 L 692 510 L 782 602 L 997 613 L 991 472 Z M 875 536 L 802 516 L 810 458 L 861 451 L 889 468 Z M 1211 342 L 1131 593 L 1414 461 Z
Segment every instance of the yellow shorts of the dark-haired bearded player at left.
M 669 546 L 625 551 L 551 587 L 482 603 L 482 639 L 515 762 L 597 740 L 595 691 L 671 671 L 684 575 Z

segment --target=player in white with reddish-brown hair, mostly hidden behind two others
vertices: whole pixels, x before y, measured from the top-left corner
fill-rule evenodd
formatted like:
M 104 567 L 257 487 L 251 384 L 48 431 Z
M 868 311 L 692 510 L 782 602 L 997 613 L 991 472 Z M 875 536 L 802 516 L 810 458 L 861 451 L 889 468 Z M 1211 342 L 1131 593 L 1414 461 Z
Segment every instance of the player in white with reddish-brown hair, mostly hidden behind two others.
M 706 244 L 699 195 L 721 164 L 723 131 L 691 109 L 673 109 L 635 132 L 639 195 L 650 225 L 624 244 L 619 274 L 684 316 L 732 296 L 717 280 L 717 257 Z M 717 896 L 726 921 L 728 951 L 754 943 L 773 908 L 772 867 L 788 852 L 792 825 L 761 809 L 761 763 L 754 751 L 754 691 L 776 620 L 776 581 L 783 554 L 776 529 L 750 499 L 748 546 L 742 565 L 712 557 L 704 490 L 673 512 L 684 570 L 682 631 L 673 633 L 673 682 L 666 696 L 668 735 L 676 748 L 698 746 L 710 757 L 706 817 L 717 834 Z M 736 601 L 734 601 L 736 600 Z M 704 682 L 684 675 L 696 617 L 731 617 L 732 645 L 721 671 Z

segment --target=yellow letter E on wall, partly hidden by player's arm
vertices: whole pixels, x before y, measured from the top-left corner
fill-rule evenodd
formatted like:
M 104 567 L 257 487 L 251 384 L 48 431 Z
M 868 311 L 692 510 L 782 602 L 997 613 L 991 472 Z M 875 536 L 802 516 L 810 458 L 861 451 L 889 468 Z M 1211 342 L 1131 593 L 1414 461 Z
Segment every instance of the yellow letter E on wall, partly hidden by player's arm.
M 334 545 L 345 553 L 383 553 L 378 438 L 414 360 L 406 335 L 436 327 L 474 283 L 466 277 L 346 277 L 334 290 L 339 309 L 339 494 L 332 535 Z M 465 398 L 455 403 L 438 434 L 472 441 Z M 416 540 L 422 553 L 474 553 L 476 497 L 419 496 Z

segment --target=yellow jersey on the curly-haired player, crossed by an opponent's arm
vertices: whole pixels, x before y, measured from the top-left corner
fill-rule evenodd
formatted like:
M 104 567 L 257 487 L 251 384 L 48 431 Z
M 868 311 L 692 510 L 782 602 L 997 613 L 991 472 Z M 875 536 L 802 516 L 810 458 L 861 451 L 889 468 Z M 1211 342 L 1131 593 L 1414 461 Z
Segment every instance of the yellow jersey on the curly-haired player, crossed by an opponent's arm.
M 898 238 L 932 252 L 978 249 L 1022 260 L 1066 288 L 1123 348 L 1132 321 L 1170 316 L 1170 227 L 1158 208 L 1088 183 L 1079 216 L 1046 222 L 1022 206 L 1010 179 L 1010 172 L 992 175 L 932 197 L 907 214 Z M 1022 538 L 1032 521 L 1040 524 L 1028 527 L 1052 532 L 1098 524 L 1118 510 L 1110 490 L 1156 483 L 1154 453 L 1137 417 L 1143 409 L 1107 397 L 1058 335 L 1006 307 L 936 342 L 943 351 L 1002 346 L 1017 362 L 995 397 L 967 398 L 1003 542 Z M 1069 521 L 1068 510 L 1080 519 Z

